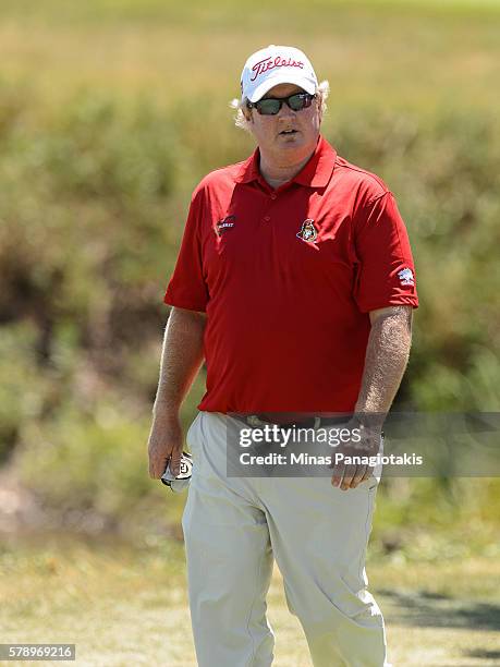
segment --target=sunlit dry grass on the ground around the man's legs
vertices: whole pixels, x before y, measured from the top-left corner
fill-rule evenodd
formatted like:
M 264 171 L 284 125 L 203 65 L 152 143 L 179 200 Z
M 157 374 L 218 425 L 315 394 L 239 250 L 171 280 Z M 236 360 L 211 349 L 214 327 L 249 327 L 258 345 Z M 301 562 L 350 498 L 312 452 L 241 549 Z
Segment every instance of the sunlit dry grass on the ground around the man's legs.
M 46 534 L 41 542 L 5 542 L 0 571 L 1 642 L 75 643 L 81 665 L 196 665 L 181 543 L 150 536 L 131 547 Z M 498 558 L 377 558 L 368 574 L 394 665 L 498 665 Z M 309 667 L 278 570 L 268 603 L 276 667 Z

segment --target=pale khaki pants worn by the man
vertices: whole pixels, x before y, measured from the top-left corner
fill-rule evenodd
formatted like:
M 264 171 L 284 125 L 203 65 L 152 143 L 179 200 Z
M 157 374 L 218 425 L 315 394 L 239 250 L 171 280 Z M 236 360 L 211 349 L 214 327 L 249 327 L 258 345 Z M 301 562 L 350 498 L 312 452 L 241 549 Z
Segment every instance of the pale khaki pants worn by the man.
M 187 433 L 194 465 L 182 526 L 198 666 L 271 665 L 266 594 L 276 558 L 315 667 L 388 667 L 365 573 L 377 480 L 342 492 L 330 477 L 228 477 L 231 419 L 200 412 Z

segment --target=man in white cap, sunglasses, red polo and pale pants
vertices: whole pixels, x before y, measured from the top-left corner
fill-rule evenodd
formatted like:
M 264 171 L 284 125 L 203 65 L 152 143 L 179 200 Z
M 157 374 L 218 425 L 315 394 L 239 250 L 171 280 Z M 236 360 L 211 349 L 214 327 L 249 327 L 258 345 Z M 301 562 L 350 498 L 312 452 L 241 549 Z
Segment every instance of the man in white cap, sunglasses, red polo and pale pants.
M 379 450 L 382 419 L 368 415 L 391 405 L 417 306 L 407 235 L 383 182 L 320 136 L 327 86 L 302 51 L 257 51 L 241 87 L 239 124 L 257 149 L 193 194 L 164 298 L 149 474 L 179 470 L 179 410 L 205 359 L 182 521 L 198 665 L 272 663 L 276 558 L 314 665 L 381 667 L 383 620 L 364 569 L 379 476 L 339 463 L 328 477 L 233 477 L 227 433 L 355 413 L 362 437 L 343 453 Z

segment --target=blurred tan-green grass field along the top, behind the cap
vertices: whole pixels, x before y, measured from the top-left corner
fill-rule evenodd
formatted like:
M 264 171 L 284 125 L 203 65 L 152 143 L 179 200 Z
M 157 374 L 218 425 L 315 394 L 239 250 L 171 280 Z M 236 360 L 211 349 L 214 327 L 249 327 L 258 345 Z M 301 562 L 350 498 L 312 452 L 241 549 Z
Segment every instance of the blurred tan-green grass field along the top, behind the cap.
M 167 102 L 199 94 L 221 119 L 247 54 L 295 43 L 332 83 L 336 106 L 491 108 L 499 23 L 498 3 L 484 2 L 294 0 L 283 14 L 261 0 L 237 13 L 225 0 L 8 1 L 0 71 L 39 88 L 47 104 L 81 87 L 126 98 L 154 92 Z

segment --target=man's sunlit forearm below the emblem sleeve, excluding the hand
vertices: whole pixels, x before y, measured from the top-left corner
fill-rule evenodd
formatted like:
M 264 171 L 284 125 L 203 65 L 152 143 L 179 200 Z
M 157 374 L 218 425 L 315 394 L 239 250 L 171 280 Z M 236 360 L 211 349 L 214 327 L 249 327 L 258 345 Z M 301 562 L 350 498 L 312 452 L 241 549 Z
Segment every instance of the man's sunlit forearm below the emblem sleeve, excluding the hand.
M 371 323 L 356 413 L 389 412 L 410 356 L 412 310 L 385 308 Z

